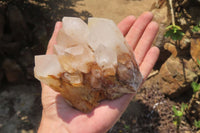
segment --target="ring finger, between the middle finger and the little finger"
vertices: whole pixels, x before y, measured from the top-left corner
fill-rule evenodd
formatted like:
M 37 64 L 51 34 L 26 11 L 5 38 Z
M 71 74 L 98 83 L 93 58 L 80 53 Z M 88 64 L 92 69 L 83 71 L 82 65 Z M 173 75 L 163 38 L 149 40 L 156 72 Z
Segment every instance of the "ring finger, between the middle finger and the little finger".
M 145 29 L 141 39 L 139 40 L 135 48 L 135 58 L 137 63 L 140 65 L 146 55 L 147 51 L 151 47 L 154 38 L 158 32 L 158 24 L 156 22 L 151 22 Z

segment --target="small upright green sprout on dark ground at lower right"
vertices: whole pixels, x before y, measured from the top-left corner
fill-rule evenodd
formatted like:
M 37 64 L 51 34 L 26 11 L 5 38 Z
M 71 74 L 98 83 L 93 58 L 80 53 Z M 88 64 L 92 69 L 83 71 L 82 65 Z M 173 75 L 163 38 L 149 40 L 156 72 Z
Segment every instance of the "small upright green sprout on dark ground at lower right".
M 172 111 L 174 113 L 174 115 L 173 115 L 173 117 L 174 117 L 173 123 L 174 123 L 174 125 L 177 126 L 177 131 L 179 131 L 181 120 L 182 120 L 183 115 L 185 114 L 185 110 L 187 109 L 187 107 L 188 107 L 188 105 L 184 104 L 184 103 L 181 104 L 181 109 L 180 110 L 177 110 L 175 106 L 172 107 Z

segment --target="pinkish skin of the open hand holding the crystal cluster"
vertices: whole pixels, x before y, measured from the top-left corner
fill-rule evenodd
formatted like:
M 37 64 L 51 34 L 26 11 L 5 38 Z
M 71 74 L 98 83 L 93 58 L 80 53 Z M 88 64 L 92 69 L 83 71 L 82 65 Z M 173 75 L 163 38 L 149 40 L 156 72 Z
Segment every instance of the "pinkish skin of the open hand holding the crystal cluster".
M 134 51 L 144 80 L 159 56 L 159 49 L 151 46 L 158 32 L 158 24 L 152 19 L 152 13 L 145 12 L 137 19 L 128 16 L 118 24 Z M 53 54 L 53 45 L 56 44 L 56 36 L 61 27 L 62 23 L 57 22 L 46 54 Z M 38 133 L 107 132 L 120 118 L 133 96 L 126 94 L 116 100 L 103 101 L 92 112 L 84 114 L 69 106 L 59 93 L 42 84 L 43 112 Z

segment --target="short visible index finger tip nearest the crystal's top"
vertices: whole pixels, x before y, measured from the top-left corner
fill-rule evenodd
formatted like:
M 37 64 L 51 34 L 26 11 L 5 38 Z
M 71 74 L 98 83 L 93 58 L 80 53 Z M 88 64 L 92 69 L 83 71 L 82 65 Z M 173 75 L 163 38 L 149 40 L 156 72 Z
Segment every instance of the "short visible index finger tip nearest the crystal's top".
M 117 26 L 124 36 L 128 33 L 129 29 L 135 22 L 136 18 L 134 16 L 128 16 L 124 18 Z

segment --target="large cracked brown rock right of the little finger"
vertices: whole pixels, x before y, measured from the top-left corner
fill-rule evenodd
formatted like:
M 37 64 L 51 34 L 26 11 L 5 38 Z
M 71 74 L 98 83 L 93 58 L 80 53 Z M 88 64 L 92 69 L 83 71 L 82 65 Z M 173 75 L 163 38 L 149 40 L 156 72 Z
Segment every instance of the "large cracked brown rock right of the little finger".
M 198 78 L 197 74 L 190 68 L 192 68 L 191 61 L 172 56 L 168 58 L 162 65 L 159 73 L 162 92 L 174 98 L 190 89 L 188 86 Z

